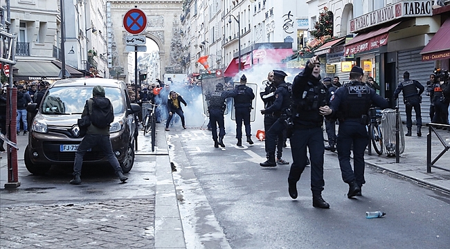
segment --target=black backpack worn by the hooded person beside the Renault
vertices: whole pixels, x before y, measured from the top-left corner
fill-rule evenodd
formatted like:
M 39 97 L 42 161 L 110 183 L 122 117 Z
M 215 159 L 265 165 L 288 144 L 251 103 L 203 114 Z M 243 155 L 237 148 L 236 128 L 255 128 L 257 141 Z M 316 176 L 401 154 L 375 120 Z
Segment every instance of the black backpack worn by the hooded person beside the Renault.
M 88 105 L 89 108 L 89 105 Z M 114 112 L 108 98 L 92 98 L 92 110 L 89 111 L 91 123 L 98 128 L 109 127 L 114 121 Z

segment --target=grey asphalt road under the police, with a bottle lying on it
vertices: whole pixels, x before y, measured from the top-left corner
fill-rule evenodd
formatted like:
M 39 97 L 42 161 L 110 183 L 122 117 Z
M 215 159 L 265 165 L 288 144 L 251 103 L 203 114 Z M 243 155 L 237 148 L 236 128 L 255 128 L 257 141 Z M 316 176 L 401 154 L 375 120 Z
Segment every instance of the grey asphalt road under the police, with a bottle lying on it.
M 262 168 L 264 143 L 216 149 L 207 131 L 171 129 L 170 158 L 188 248 L 448 248 L 450 198 L 406 178 L 366 167 L 363 196 L 347 199 L 337 156 L 325 153 L 330 210 L 312 207 L 309 168 L 287 193 L 289 165 Z M 244 143 L 244 145 L 247 145 Z M 291 160 L 290 150 L 284 158 Z M 366 219 L 366 211 L 386 212 Z

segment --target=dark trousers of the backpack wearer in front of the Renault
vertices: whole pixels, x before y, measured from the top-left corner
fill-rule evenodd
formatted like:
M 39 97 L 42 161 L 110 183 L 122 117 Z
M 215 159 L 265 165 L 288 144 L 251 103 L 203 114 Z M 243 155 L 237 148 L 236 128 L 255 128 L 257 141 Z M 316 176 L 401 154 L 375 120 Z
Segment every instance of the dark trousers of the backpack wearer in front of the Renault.
M 112 151 L 111 140 L 109 140 L 109 135 L 101 134 L 86 134 L 83 140 L 81 140 L 77 151 L 75 152 L 75 162 L 73 162 L 73 175 L 81 174 L 81 167 L 83 165 L 83 156 L 92 147 L 100 147 L 103 154 L 108 158 L 109 163 L 114 169 L 114 172 L 123 172 L 120 167 L 119 161 L 114 152 Z

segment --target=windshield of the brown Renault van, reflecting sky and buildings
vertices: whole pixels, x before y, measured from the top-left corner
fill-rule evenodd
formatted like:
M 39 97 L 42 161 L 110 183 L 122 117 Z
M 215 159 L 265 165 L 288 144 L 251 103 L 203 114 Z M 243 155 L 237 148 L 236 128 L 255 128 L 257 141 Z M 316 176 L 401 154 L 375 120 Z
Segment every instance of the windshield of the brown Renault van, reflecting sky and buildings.
M 43 114 L 81 114 L 86 100 L 92 98 L 93 86 L 56 86 L 47 90 L 42 103 Z M 114 108 L 114 114 L 123 113 L 125 102 L 120 89 L 105 87 L 106 97 Z

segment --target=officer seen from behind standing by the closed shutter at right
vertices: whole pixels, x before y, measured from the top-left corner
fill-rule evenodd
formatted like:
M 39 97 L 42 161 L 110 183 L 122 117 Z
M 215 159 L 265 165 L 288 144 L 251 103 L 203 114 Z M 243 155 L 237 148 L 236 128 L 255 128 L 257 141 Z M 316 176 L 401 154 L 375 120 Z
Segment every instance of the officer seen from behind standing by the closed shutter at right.
M 422 136 L 422 131 L 420 131 L 420 128 L 422 128 L 422 116 L 420 115 L 420 102 L 422 102 L 422 97 L 420 97 L 420 95 L 425 91 L 425 88 L 417 80 L 411 80 L 408 71 L 403 73 L 403 79 L 404 80 L 399 83 L 397 89 L 394 91 L 394 98 L 397 100 L 400 91 L 403 91 L 403 102 L 406 111 L 406 128 L 408 128 L 408 133 L 406 133 L 405 136 L 411 136 L 411 127 L 413 127 L 413 120 L 411 118 L 413 107 L 417 125 L 417 136 Z M 419 89 L 418 93 L 417 89 Z

